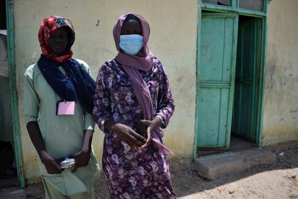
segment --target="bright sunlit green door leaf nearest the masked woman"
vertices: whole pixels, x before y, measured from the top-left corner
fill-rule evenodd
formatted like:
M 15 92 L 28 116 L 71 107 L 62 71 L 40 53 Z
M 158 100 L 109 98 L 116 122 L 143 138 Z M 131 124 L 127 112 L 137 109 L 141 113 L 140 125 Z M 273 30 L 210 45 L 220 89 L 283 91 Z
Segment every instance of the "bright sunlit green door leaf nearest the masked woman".
M 198 57 L 197 149 L 228 149 L 238 15 L 202 13 Z

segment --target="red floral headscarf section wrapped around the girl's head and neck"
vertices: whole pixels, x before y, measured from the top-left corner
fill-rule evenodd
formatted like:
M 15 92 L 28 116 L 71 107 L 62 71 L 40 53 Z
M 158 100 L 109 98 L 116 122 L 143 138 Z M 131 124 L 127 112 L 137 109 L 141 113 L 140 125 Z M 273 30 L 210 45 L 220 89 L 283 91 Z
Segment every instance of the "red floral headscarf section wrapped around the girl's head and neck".
M 68 44 L 64 50 L 63 54 L 55 54 L 52 52 L 49 44 L 48 38 L 52 33 L 62 26 L 67 26 L 69 28 L 68 35 Z M 65 61 L 69 61 L 72 58 L 71 47 L 75 40 L 75 32 L 73 30 L 72 23 L 69 19 L 65 19 L 59 16 L 50 16 L 43 20 L 41 23 L 39 32 L 38 32 L 38 40 L 41 47 L 41 51 L 44 57 L 47 57 L 53 61 L 57 61 L 63 63 Z

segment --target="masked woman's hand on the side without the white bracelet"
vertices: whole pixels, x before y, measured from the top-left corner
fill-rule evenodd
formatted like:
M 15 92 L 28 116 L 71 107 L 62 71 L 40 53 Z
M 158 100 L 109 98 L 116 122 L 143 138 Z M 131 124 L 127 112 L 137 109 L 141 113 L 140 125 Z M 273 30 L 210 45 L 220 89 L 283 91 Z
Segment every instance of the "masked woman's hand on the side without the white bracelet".
M 117 134 L 117 136 L 124 141 L 128 146 L 135 149 L 143 146 L 146 138 L 136 133 L 132 128 L 120 123 L 114 123 L 111 125 L 111 130 Z M 142 142 L 143 140 L 143 142 Z

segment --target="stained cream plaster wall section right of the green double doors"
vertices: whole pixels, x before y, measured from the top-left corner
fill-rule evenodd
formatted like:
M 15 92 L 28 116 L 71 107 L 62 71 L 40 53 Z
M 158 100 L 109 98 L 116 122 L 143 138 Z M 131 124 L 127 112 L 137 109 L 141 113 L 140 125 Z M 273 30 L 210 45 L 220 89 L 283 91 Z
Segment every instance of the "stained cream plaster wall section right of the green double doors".
M 298 140 L 298 1 L 268 5 L 262 146 Z

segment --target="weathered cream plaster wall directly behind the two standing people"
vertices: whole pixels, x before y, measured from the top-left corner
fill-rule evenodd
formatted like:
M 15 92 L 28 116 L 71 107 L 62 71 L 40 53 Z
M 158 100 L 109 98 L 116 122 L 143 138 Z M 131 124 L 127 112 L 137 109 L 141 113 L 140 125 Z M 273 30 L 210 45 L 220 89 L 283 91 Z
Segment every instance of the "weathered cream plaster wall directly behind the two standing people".
M 176 104 L 164 141 L 176 154 L 169 156 L 169 159 L 180 159 L 191 158 L 193 154 L 197 7 L 197 0 L 14 1 L 20 133 L 27 184 L 38 182 L 40 174 L 36 152 L 23 123 L 23 74 L 40 56 L 37 33 L 42 20 L 50 15 L 71 19 L 76 32 L 73 57 L 89 64 L 94 79 L 104 61 L 113 59 L 117 53 L 112 29 L 118 17 L 127 12 L 136 12 L 148 21 L 151 26 L 150 49 L 165 67 Z M 93 147 L 100 164 L 103 137 L 97 128 Z

